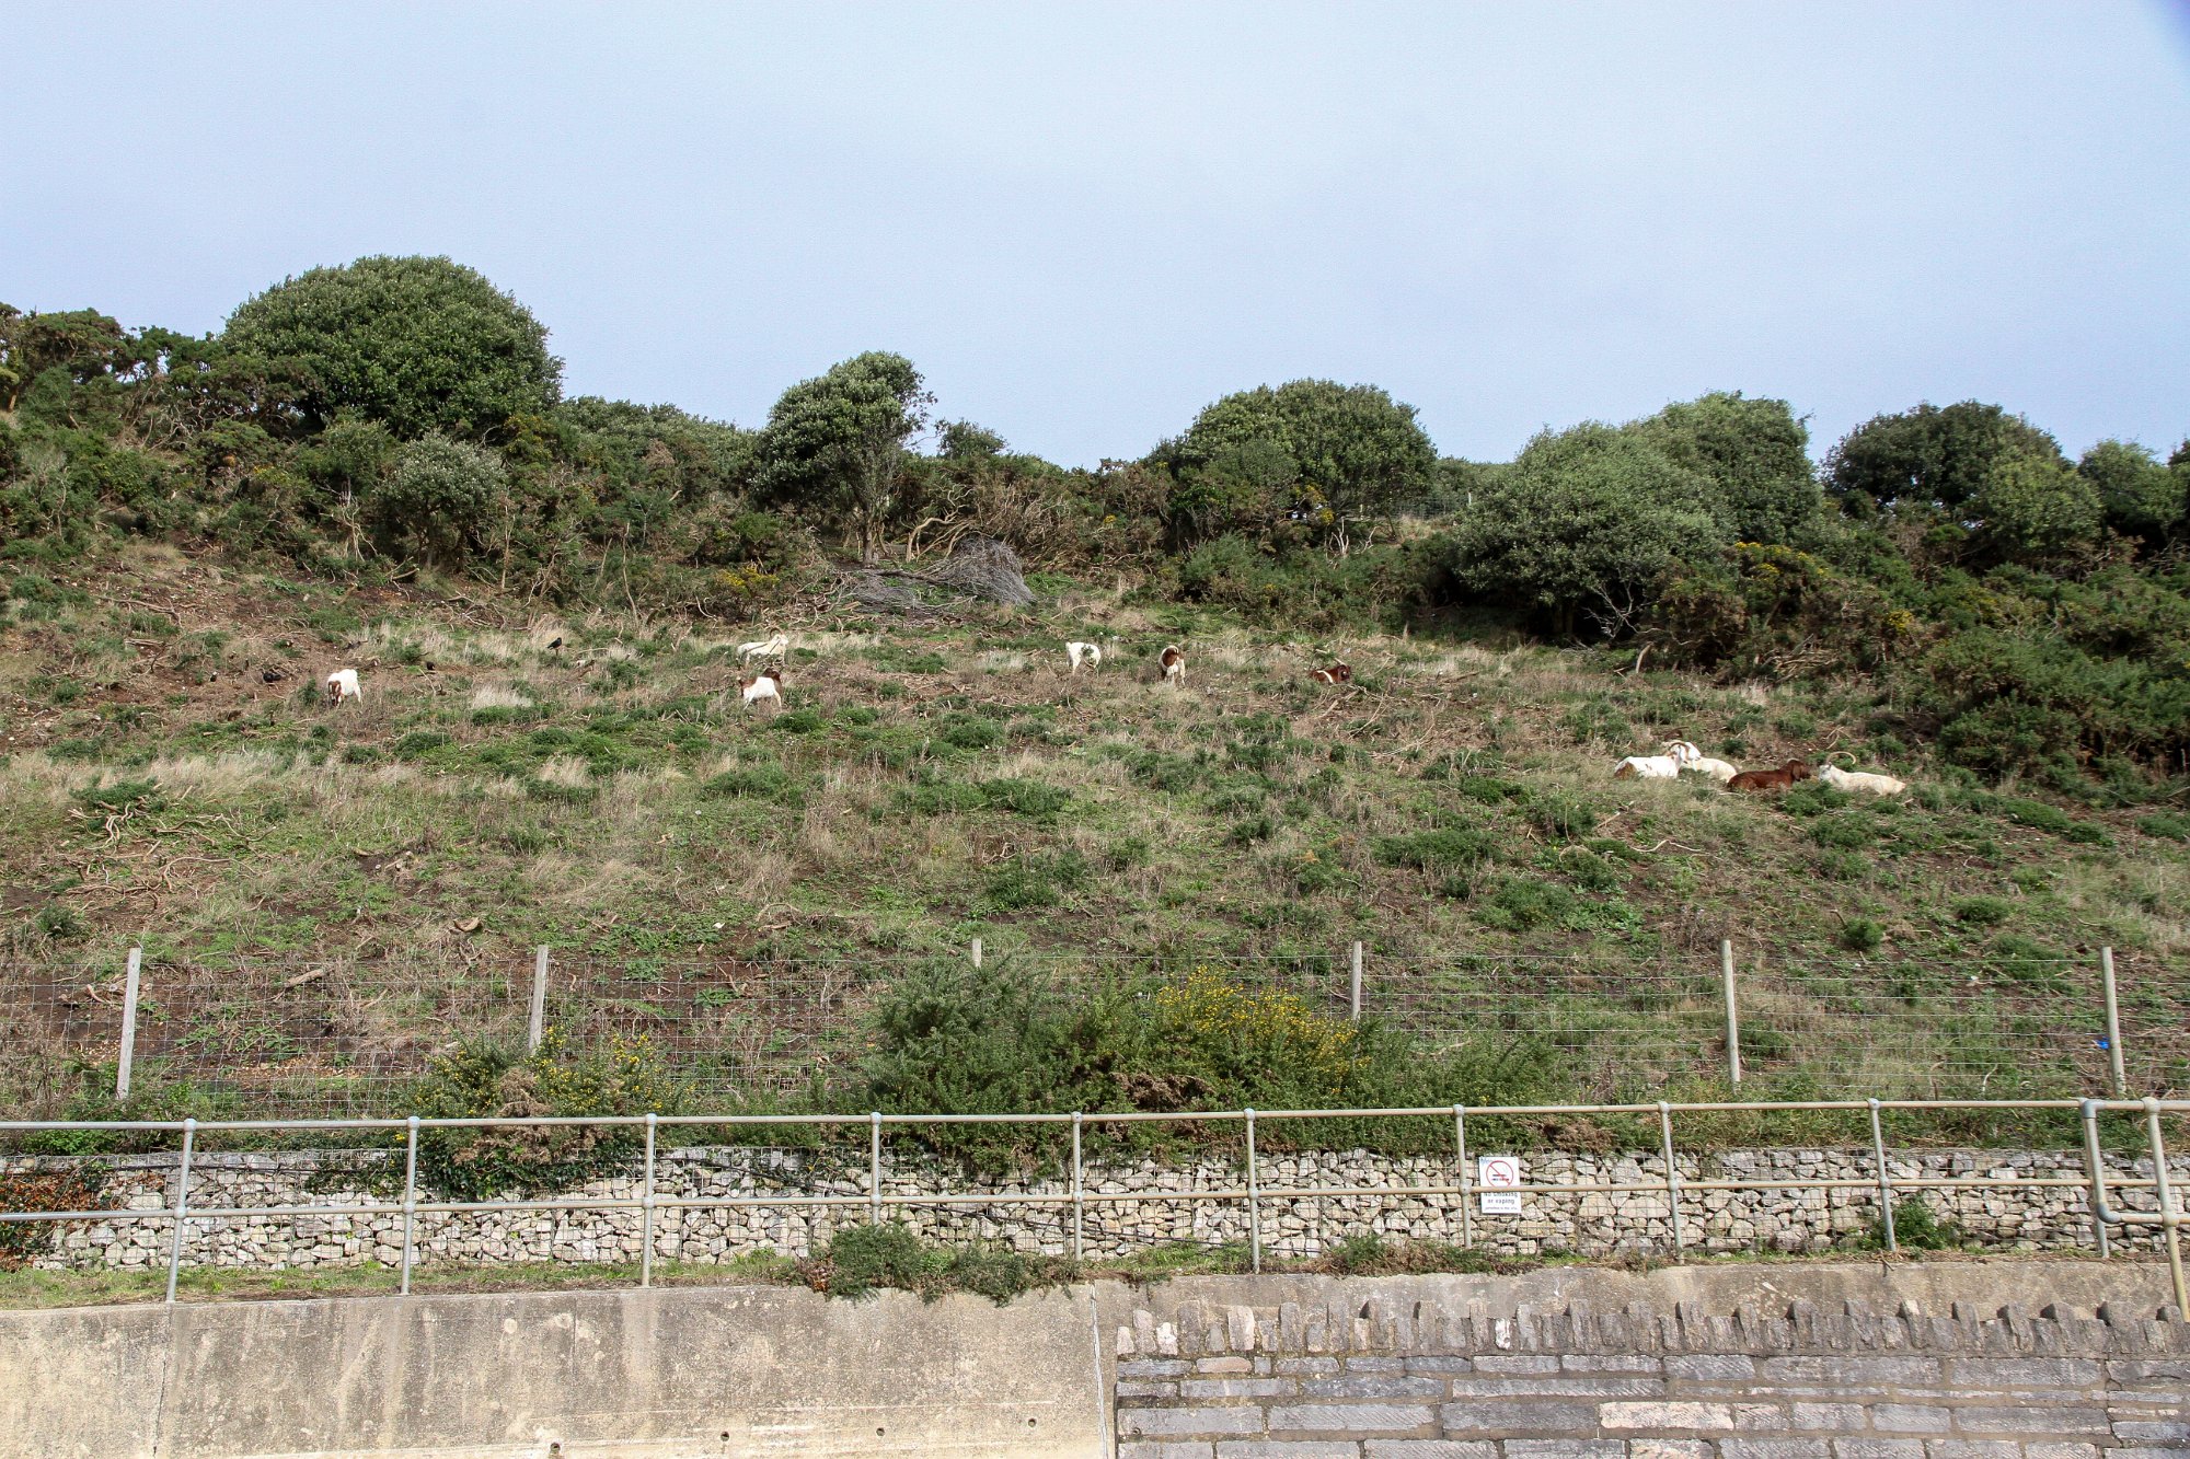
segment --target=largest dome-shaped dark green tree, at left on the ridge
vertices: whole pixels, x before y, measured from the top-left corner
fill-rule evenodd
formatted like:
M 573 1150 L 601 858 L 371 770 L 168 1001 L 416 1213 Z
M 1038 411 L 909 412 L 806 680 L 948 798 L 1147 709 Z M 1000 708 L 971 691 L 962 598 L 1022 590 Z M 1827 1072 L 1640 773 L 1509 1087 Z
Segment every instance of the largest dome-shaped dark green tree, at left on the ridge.
M 449 259 L 359 259 L 309 269 L 245 300 L 221 333 L 243 355 L 302 364 L 311 425 L 337 412 L 399 436 L 484 436 L 550 410 L 563 361 L 548 331 L 482 274 Z

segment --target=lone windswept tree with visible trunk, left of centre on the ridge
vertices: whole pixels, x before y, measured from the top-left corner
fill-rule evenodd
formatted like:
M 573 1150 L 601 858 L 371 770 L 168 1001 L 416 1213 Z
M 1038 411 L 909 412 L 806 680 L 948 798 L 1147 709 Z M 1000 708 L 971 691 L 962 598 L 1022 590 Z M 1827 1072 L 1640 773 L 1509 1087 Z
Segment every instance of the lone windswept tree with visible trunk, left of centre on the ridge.
M 874 550 L 904 484 L 907 443 L 935 403 L 904 355 L 869 351 L 784 390 L 756 443 L 762 497 L 848 521 L 861 561 Z

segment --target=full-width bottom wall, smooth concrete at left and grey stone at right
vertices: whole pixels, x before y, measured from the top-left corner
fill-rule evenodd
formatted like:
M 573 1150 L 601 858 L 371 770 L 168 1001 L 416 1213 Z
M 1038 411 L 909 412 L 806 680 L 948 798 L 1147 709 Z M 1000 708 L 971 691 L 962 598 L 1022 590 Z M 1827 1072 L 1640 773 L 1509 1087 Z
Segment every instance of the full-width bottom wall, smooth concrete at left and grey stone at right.
M 2166 1293 L 2140 1262 L 1870 1262 L 1196 1277 L 1005 1308 L 723 1286 L 0 1312 L 0 1459 L 1097 1459 L 1113 1424 L 1130 1459 L 2151 1459 L 2190 1446 Z M 1688 1363 L 1713 1354 L 1748 1367 Z M 1831 1367 L 1855 1358 L 1894 1363 Z M 1292 1387 L 1189 1391 L 1272 1382 Z M 1892 1428 L 1927 1393 L 1962 1417 Z M 1364 1435 L 1340 1413 L 1382 1426 L 1393 1404 L 1430 1417 Z M 1498 1428 L 1478 1404 L 1505 1404 Z M 1984 1417 L 2048 1404 L 2078 1428 Z M 1844 1428 L 1802 1426 L 1826 1420 Z

